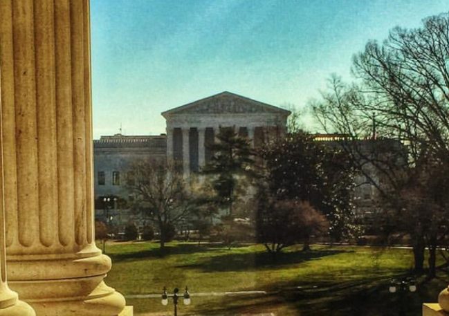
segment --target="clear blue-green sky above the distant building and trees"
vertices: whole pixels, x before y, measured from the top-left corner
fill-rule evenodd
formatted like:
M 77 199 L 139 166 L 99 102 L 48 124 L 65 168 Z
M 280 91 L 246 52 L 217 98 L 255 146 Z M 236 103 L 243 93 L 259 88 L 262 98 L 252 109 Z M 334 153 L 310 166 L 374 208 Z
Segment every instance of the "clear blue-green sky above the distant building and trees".
M 447 0 L 91 0 L 94 137 L 165 133 L 161 112 L 221 91 L 302 108 L 394 26 Z

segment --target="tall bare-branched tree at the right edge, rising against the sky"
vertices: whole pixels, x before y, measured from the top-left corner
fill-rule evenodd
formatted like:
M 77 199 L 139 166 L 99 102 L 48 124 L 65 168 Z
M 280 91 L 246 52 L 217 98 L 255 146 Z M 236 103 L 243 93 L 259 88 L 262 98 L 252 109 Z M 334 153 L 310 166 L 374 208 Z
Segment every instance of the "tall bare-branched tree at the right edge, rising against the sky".
M 407 146 L 403 164 L 363 156 L 355 146 L 351 151 L 361 171 L 361 165 L 369 163 L 381 175 L 369 181 L 392 213 L 411 216 L 396 224 L 412 234 L 418 271 L 428 245 L 432 276 L 434 249 L 448 234 L 442 215 L 449 201 L 441 189 L 449 177 L 449 15 L 429 17 L 417 29 L 394 28 L 382 44 L 369 41 L 354 57 L 352 71 L 356 77 L 352 85 L 331 78 L 329 91 L 312 104 L 314 113 L 327 131 L 349 140 L 381 135 Z M 431 194 L 430 187 L 437 193 Z

